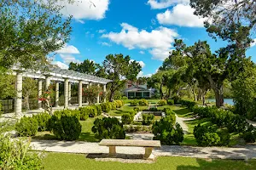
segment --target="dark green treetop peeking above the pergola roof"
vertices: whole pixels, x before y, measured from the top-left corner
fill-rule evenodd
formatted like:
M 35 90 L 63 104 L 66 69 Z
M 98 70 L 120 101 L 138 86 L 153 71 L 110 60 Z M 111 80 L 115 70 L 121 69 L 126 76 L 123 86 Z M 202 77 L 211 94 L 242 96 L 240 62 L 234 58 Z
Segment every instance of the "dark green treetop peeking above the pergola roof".
M 95 75 L 96 70 L 100 67 L 99 64 L 96 64 L 93 60 L 84 59 L 83 63 L 73 63 L 69 64 L 68 70 L 79 71 L 81 73 Z

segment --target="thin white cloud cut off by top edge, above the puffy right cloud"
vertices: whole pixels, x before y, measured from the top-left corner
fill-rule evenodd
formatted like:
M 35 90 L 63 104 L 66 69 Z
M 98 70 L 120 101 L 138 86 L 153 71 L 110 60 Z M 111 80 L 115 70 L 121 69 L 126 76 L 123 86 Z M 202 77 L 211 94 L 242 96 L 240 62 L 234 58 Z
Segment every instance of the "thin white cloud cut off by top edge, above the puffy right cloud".
M 189 0 L 148 0 L 151 8 L 168 8 L 177 3 L 189 4 Z

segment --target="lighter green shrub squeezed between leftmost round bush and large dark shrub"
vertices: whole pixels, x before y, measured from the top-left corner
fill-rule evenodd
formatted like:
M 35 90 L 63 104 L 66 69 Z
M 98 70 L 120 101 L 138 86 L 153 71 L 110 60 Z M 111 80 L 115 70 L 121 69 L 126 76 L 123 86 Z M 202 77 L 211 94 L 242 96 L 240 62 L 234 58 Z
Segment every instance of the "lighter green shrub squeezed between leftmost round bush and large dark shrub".
M 49 131 L 49 114 L 40 113 L 32 116 L 38 122 L 38 132 Z

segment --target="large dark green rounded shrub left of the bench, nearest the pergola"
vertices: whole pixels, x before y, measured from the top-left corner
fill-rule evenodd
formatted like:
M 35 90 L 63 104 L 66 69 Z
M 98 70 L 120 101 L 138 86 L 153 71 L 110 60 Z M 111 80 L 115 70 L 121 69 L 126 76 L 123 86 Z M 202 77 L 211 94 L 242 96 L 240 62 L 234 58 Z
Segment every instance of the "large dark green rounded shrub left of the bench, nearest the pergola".
M 76 140 L 79 139 L 82 126 L 77 116 L 70 112 L 62 111 L 51 116 L 49 119 L 49 129 L 55 134 L 57 139 Z

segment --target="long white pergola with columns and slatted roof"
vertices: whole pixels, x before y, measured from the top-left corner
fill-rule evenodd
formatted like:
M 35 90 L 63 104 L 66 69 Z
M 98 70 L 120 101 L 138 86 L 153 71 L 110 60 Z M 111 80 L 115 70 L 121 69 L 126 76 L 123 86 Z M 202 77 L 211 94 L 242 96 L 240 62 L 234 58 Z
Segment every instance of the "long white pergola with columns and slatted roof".
M 97 86 L 103 85 L 103 91 L 106 92 L 106 84 L 111 80 L 90 76 L 77 71 L 63 70 L 59 67 L 49 67 L 33 71 L 20 69 L 19 66 L 14 66 L 12 69 L 13 74 L 16 76 L 16 98 L 15 98 L 15 114 L 20 115 L 22 112 L 22 77 L 31 77 L 38 79 L 38 96 L 42 95 L 43 80 L 45 81 L 45 88 L 48 89 L 50 81 L 55 81 L 55 106 L 59 102 L 59 83 L 64 82 L 64 108 L 67 109 L 68 102 L 71 99 L 71 83 L 79 83 L 79 107 L 82 104 L 82 89 L 83 84 L 87 84 L 87 88 L 95 83 Z M 106 99 L 104 99 L 105 101 Z M 100 102 L 99 95 L 97 96 L 97 103 Z M 38 100 L 38 108 L 42 108 L 42 102 Z

